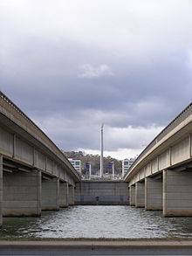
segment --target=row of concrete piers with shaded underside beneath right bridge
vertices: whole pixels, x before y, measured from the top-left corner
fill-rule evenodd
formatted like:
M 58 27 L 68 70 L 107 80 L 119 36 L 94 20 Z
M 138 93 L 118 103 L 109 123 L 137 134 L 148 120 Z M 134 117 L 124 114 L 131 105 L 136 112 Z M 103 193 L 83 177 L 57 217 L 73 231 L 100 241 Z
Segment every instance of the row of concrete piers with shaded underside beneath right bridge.
M 129 187 L 130 205 L 159 210 L 164 217 L 192 216 L 192 167 L 162 170 Z

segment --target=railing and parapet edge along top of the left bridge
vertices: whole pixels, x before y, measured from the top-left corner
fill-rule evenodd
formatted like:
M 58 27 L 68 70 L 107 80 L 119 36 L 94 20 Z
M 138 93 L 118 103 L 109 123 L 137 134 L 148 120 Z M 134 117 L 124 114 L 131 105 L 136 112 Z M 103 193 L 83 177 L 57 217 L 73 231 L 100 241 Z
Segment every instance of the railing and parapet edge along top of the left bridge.
M 20 121 L 24 128 L 33 135 L 38 141 L 42 142 L 45 147 L 51 150 L 53 154 L 55 154 L 70 170 L 72 170 L 73 175 L 79 179 L 79 174 L 76 170 L 73 169 L 72 164 L 69 163 L 65 155 L 61 152 L 60 149 L 55 145 L 51 139 L 45 135 L 45 133 L 38 128 L 38 126 L 31 121 L 31 119 L 24 114 L 24 112 L 16 106 L 4 93 L 0 91 L 0 106 L 2 106 L 8 113 L 12 114 L 17 121 Z

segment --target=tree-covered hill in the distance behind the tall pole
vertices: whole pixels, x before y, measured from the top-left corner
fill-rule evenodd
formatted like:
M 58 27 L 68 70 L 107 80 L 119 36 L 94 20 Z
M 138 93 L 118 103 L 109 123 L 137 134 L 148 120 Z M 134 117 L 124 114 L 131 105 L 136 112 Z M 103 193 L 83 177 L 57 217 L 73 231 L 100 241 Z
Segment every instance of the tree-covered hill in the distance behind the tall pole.
M 100 156 L 99 155 L 90 155 L 85 154 L 85 152 L 79 151 L 63 151 L 67 158 L 72 158 L 74 160 L 81 160 L 82 163 L 82 173 L 86 173 L 86 163 L 92 163 L 92 173 L 99 174 L 100 170 Z M 104 172 L 112 173 L 112 169 L 108 169 L 108 163 L 114 162 L 114 172 L 115 174 L 121 173 L 122 162 L 111 156 L 104 157 L 103 165 L 104 165 Z

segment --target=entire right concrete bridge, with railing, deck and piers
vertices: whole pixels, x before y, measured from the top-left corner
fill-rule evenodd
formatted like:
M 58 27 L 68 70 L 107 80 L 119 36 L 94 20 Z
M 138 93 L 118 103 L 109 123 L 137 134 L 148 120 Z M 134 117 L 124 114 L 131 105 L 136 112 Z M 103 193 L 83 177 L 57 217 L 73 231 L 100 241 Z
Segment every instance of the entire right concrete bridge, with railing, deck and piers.
M 192 216 L 192 103 L 141 152 L 124 177 L 129 202 L 163 216 Z

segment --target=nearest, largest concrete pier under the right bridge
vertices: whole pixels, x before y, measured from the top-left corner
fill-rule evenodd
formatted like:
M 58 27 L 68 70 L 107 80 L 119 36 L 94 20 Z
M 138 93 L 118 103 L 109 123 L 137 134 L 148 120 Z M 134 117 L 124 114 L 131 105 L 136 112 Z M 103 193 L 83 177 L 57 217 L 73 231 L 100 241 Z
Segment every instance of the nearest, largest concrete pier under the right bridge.
M 192 216 L 192 170 L 163 170 L 163 216 Z

